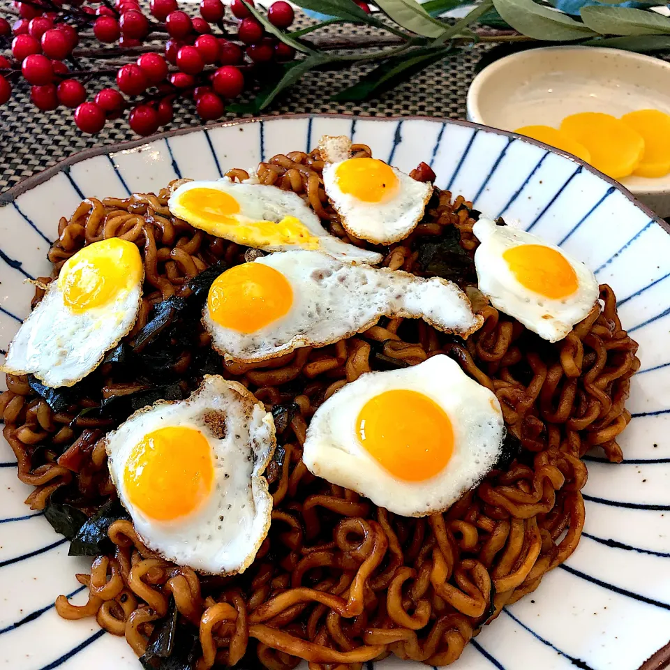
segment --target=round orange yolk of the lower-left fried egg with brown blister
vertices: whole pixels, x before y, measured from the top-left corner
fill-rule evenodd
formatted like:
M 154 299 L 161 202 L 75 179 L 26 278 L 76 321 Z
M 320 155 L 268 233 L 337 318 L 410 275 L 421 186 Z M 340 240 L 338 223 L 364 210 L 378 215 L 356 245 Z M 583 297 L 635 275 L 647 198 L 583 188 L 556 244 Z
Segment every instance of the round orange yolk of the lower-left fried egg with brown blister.
M 214 484 L 211 447 L 193 428 L 167 426 L 144 435 L 124 472 L 128 500 L 156 521 L 195 512 Z

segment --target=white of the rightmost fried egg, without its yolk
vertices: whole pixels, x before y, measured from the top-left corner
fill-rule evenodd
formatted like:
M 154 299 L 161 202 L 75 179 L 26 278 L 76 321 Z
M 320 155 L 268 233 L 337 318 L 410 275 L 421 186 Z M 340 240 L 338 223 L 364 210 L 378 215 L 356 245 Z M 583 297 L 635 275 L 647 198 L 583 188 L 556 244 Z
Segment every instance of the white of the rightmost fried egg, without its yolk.
M 593 307 L 598 304 L 600 288 L 593 272 L 583 262 L 555 244 L 549 244 L 525 230 L 518 230 L 509 225 L 496 225 L 494 221 L 487 218 L 479 218 L 472 232 L 479 240 L 479 246 L 475 251 L 479 291 L 489 297 L 494 307 L 514 317 L 545 340 L 557 342 L 563 339 L 572 330 L 572 327 L 586 318 Z M 502 245 L 496 244 L 500 241 Z M 519 244 L 541 244 L 555 249 L 572 265 L 577 275 L 579 286 L 576 292 L 568 296 L 565 301 L 538 294 L 537 303 L 533 304 L 531 309 L 552 313 L 551 319 L 539 318 L 538 320 L 533 318 L 533 314 L 529 314 L 528 296 L 533 295 L 533 291 L 523 288 L 524 295 L 518 295 L 520 285 L 507 263 L 502 260 L 502 254 L 498 253 Z

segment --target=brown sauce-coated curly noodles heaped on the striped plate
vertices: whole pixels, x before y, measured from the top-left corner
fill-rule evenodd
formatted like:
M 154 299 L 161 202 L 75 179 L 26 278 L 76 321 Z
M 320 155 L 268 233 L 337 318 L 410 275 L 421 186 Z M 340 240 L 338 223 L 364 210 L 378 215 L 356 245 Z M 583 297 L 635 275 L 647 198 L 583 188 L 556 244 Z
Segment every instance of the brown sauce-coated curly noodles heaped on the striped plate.
M 362 144 L 355 151 L 369 155 Z M 258 177 L 302 195 L 333 234 L 346 237 L 327 204 L 321 167 L 318 151 L 292 152 L 262 163 Z M 412 176 L 428 178 L 426 168 Z M 231 170 L 228 176 L 248 175 Z M 184 283 L 209 265 L 244 262 L 244 248 L 172 217 L 168 195 L 164 188 L 158 195 L 84 200 L 69 220 L 61 218 L 49 253 L 56 276 L 84 244 L 112 236 L 134 241 L 146 269 L 134 332 L 152 305 L 183 294 Z M 470 205 L 437 192 L 424 221 L 389 248 L 384 264 L 416 271 L 417 239 L 439 239 L 451 227 L 471 253 L 477 240 L 463 204 Z M 42 293 L 37 290 L 35 301 Z M 114 552 L 95 558 L 91 574 L 77 575 L 89 586 L 87 604 L 60 596 L 58 613 L 96 616 L 142 655 L 174 599 L 178 625 L 199 636 L 198 670 L 234 665 L 248 651 L 269 670 L 290 670 L 300 659 L 311 670 L 359 670 L 389 654 L 432 665 L 454 662 L 502 606 L 535 590 L 574 551 L 584 523 L 586 466 L 580 457 L 600 445 L 611 461 L 622 459 L 616 438 L 630 421 L 624 403 L 639 367 L 637 345 L 621 329 L 608 286 L 600 287 L 600 297 L 602 312 L 591 313 L 555 345 L 475 296 L 485 322 L 467 343 L 423 322 L 384 320 L 327 348 L 221 366 L 221 374 L 246 385 L 268 408 L 295 403 L 278 435 L 283 459 L 267 472 L 273 523 L 255 562 L 241 576 L 199 576 L 148 551 L 130 521 L 116 521 L 109 529 Z M 198 333 L 194 346 L 207 348 L 207 334 Z M 523 447 L 511 465 L 493 470 L 445 514 L 423 519 L 389 514 L 306 470 L 301 445 L 320 403 L 381 362 L 417 364 L 438 352 L 454 357 L 498 396 L 507 429 Z M 174 370 L 188 377 L 193 357 L 185 350 Z M 141 383 L 112 379 L 109 364 L 95 374 L 103 398 Z M 31 507 L 41 509 L 61 486 L 89 513 L 114 496 L 98 442 L 110 421 L 82 415 L 72 423 L 96 401 L 55 413 L 25 378 L 8 375 L 7 385 L 0 396 L 3 434 L 17 456 L 19 478 L 36 487 L 27 500 Z

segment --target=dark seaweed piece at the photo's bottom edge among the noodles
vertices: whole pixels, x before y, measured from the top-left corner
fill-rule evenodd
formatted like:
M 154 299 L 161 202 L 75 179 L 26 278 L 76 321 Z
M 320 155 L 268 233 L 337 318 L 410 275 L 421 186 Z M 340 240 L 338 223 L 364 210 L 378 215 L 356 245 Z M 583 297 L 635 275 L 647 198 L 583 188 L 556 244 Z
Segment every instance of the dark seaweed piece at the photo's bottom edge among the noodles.
M 177 606 L 170 599 L 168 615 L 154 627 L 140 663 L 146 670 L 195 670 L 202 655 L 198 636 L 177 625 Z

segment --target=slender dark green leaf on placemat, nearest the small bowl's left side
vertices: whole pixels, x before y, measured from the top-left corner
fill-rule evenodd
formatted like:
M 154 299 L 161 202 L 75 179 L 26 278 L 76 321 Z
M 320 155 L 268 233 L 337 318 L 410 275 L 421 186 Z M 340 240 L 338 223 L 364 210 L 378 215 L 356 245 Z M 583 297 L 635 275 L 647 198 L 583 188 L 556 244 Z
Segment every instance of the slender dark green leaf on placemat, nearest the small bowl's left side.
M 429 65 L 455 54 L 456 50 L 447 47 L 424 47 L 413 52 L 399 54 L 387 59 L 361 77 L 353 86 L 339 91 L 330 99 L 338 102 L 367 100 L 373 95 L 379 95 L 392 89 Z

